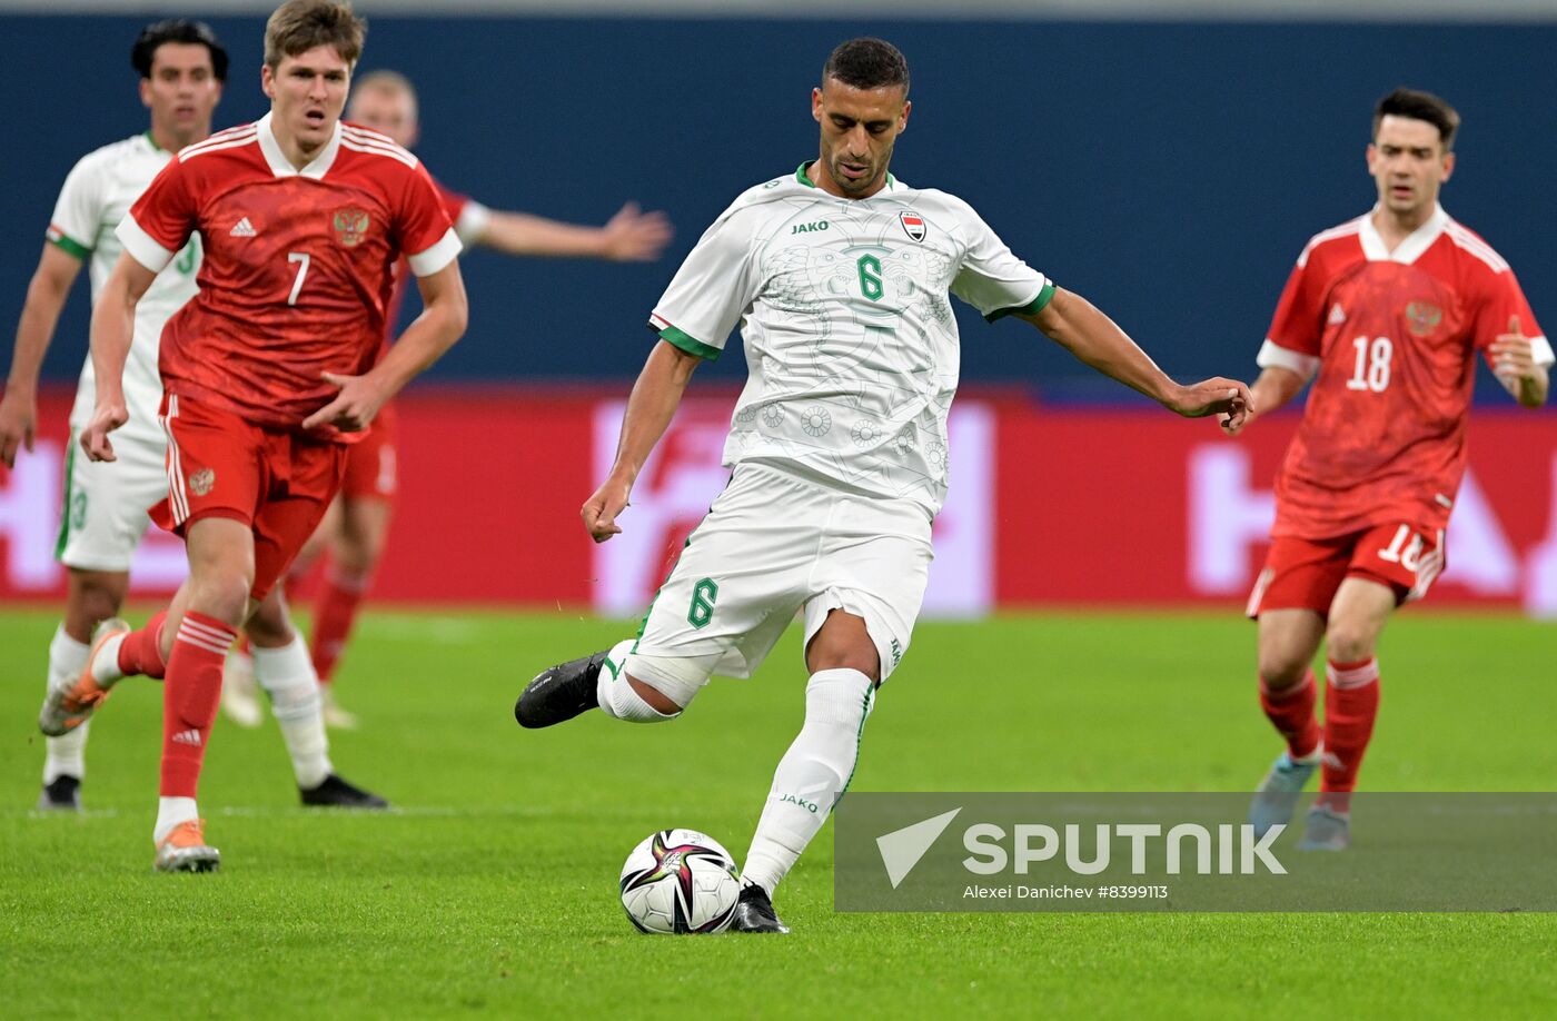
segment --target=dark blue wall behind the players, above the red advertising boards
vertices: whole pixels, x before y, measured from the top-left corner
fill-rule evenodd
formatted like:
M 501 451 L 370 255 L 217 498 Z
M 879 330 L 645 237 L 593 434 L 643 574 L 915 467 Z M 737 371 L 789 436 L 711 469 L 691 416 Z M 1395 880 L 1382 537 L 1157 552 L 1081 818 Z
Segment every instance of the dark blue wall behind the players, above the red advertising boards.
M 252 120 L 262 22 L 213 25 L 234 56 L 216 123 Z M 6 338 L 70 165 L 146 123 L 126 59 L 139 26 L 0 17 Z M 1373 201 L 1369 115 L 1397 84 L 1459 106 L 1445 205 L 1513 263 L 1557 332 L 1557 28 L 374 19 L 363 67 L 419 84 L 420 154 L 452 187 L 589 223 L 634 198 L 679 230 L 652 266 L 469 257 L 470 335 L 434 374 L 631 378 L 645 314 L 708 221 L 814 156 L 810 87 L 828 48 L 861 33 L 897 42 L 914 73 L 894 171 L 967 198 L 1177 375 L 1253 374 L 1305 240 Z M 83 283 L 54 378 L 79 366 L 86 307 Z M 1020 324 L 964 316 L 964 349 L 970 380 L 1116 395 Z M 738 358 L 705 370 L 741 372 Z

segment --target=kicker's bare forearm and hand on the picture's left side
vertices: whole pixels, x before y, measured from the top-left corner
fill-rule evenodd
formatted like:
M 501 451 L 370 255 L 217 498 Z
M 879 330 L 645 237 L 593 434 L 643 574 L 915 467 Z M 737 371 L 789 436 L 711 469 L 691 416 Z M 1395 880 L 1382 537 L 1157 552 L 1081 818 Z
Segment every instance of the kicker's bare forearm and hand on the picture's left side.
M 621 439 L 617 440 L 617 462 L 610 465 L 610 475 L 601 482 L 595 495 L 590 496 L 579 514 L 590 539 L 606 542 L 621 532 L 617 515 L 627 507 L 632 495 L 632 484 L 643 470 L 643 462 L 649 459 L 654 445 L 665 436 L 676 408 L 680 406 L 682 394 L 693 370 L 702 361 L 676 347 L 670 341 L 660 341 L 649 352 L 649 360 L 643 363 L 638 381 L 632 384 L 632 395 L 627 397 L 627 412 L 621 419 Z

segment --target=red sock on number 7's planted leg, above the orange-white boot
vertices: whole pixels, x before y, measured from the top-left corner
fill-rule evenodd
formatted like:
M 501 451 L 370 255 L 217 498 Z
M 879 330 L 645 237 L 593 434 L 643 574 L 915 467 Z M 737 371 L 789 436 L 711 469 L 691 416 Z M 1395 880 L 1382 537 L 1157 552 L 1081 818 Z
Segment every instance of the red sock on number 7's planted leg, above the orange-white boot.
M 162 797 L 195 797 L 199 788 L 221 699 L 221 665 L 237 633 L 204 613 L 185 613 L 179 624 L 162 693 Z

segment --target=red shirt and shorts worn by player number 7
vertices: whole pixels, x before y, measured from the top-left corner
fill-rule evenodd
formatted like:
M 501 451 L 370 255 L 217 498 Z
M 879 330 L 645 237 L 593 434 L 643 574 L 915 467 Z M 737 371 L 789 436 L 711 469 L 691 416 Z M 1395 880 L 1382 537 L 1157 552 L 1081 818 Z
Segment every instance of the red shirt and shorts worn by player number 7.
M 170 493 L 153 517 L 181 532 L 206 515 L 249 523 L 258 599 L 318 525 L 357 439 L 302 431 L 338 392 L 322 374 L 367 372 L 395 261 L 434 274 L 459 240 L 425 168 L 385 135 L 336 125 L 297 170 L 269 115 L 179 153 L 118 227 L 153 271 L 195 232 L 199 294 L 162 335 Z

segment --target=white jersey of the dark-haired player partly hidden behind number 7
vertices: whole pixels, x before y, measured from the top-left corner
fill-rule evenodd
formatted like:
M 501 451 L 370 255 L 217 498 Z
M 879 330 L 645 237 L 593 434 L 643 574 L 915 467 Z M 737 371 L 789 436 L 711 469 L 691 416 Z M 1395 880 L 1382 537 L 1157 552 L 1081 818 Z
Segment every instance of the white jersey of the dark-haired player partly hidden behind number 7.
M 148 134 L 104 145 L 81 157 L 65 177 L 48 224 L 48 241 L 76 258 L 89 260 L 92 303 L 114 271 L 123 244 L 114 233 L 129 207 L 146 190 L 153 177 L 167 167 L 173 154 L 157 146 Z M 193 237 L 167 269 L 135 303 L 135 333 L 125 363 L 125 405 L 129 422 L 114 434 L 120 442 L 163 444 L 157 425 L 162 403 L 162 377 L 157 374 L 157 347 L 162 327 L 188 299 L 195 297 L 195 275 L 199 271 L 199 237 Z M 81 369 L 76 403 L 70 412 L 72 431 L 86 426 L 97 397 L 92 358 Z

